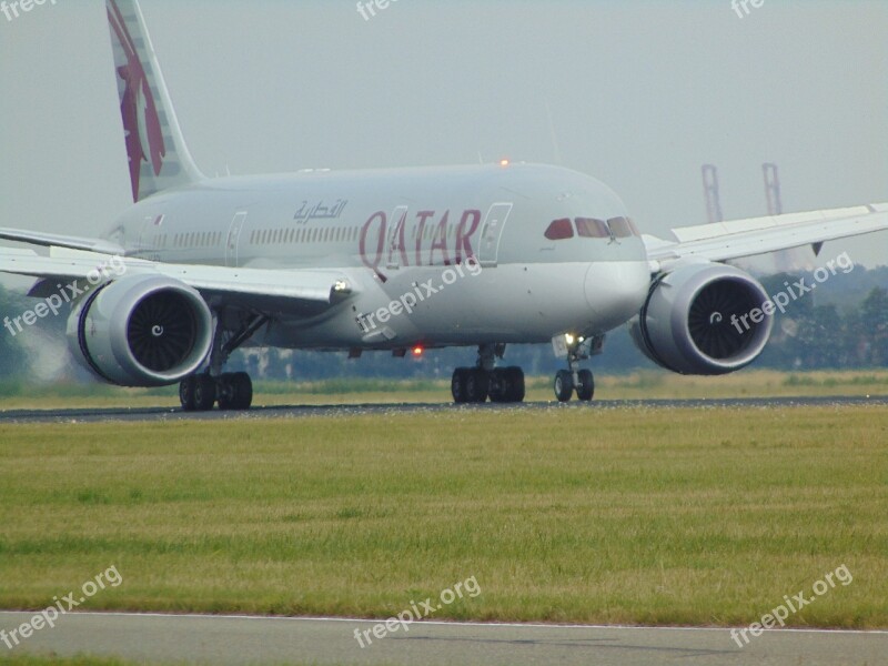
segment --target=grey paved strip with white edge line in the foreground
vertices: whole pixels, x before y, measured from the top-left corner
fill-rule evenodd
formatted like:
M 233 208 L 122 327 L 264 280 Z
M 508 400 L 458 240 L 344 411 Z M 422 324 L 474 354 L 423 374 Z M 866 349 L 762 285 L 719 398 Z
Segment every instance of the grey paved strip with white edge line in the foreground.
M 10 632 L 33 614 L 0 613 Z M 414 623 L 383 638 L 376 622 L 201 615 L 88 614 L 59 618 L 16 654 L 84 654 L 139 663 L 653 666 L 888 664 L 888 632 L 769 630 L 738 647 L 729 629 Z M 355 629 L 372 644 L 361 647 Z M 0 643 L 0 650 L 7 652 Z

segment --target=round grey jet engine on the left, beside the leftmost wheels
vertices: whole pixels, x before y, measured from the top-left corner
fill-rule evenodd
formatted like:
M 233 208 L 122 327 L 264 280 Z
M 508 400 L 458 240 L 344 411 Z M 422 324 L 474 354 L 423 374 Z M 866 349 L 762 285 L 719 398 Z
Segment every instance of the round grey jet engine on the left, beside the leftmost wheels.
M 213 317 L 192 287 L 128 275 L 84 296 L 68 320 L 74 357 L 121 386 L 164 386 L 193 374 L 213 342 Z

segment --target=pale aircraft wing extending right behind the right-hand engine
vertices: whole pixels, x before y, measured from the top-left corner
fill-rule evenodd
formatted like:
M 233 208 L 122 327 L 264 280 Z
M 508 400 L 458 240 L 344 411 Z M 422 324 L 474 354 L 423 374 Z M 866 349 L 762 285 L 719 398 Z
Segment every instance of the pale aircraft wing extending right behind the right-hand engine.
M 650 271 L 658 273 L 682 259 L 728 261 L 814 245 L 888 230 L 888 203 L 789 213 L 673 229 L 675 241 L 644 238 Z

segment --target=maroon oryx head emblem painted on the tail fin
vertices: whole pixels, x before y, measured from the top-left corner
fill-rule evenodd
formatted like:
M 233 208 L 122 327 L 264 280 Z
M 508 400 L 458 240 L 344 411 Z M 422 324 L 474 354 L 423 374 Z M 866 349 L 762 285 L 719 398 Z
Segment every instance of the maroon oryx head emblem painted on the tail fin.
M 108 21 L 114 37 L 114 54 L 118 75 L 125 83 L 121 94 L 120 112 L 127 134 L 127 154 L 130 159 L 130 181 L 133 201 L 139 201 L 139 184 L 142 163 L 151 164 L 154 175 L 160 175 L 167 147 L 163 143 L 158 105 L 144 67 L 139 60 L 135 41 L 132 39 L 117 0 L 108 0 Z M 133 11 L 138 11 L 133 8 Z M 121 59 L 121 56 L 125 61 Z

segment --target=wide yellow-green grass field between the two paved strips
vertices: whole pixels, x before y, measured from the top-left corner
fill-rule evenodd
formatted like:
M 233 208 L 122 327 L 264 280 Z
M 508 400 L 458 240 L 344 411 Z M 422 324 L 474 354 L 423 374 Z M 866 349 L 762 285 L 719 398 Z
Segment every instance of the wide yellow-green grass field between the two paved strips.
M 888 626 L 888 410 L 0 426 L 0 607 Z

